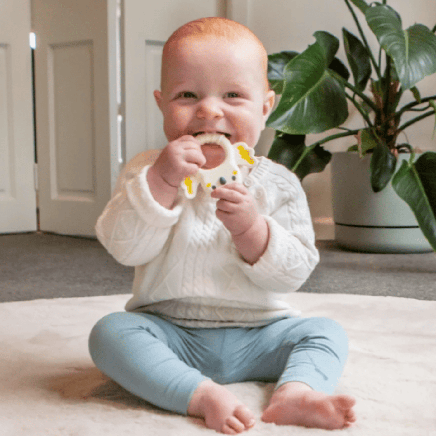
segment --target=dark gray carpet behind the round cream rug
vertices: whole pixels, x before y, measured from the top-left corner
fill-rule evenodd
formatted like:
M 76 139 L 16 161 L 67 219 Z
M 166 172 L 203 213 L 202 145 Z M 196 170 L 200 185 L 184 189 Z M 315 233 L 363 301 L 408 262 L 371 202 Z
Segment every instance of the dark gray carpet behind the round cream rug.
M 301 292 L 436 300 L 436 253 L 369 254 L 318 241 L 320 263 Z M 0 235 L 0 302 L 130 293 L 133 268 L 94 239 Z

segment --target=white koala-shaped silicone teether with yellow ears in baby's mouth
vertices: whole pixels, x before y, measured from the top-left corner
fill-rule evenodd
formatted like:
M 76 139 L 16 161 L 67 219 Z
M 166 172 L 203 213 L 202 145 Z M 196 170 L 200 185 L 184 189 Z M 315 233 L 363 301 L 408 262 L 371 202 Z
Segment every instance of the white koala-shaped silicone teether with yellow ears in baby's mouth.
M 218 167 L 205 170 L 200 168 L 196 174 L 185 177 L 181 183 L 187 198 L 194 198 L 198 185 L 209 194 L 226 183 L 242 183 L 242 174 L 238 165 L 252 166 L 255 163 L 254 150 L 244 142 L 232 144 L 224 135 L 219 133 L 205 133 L 197 136 L 201 145 L 215 143 L 225 151 L 225 159 Z

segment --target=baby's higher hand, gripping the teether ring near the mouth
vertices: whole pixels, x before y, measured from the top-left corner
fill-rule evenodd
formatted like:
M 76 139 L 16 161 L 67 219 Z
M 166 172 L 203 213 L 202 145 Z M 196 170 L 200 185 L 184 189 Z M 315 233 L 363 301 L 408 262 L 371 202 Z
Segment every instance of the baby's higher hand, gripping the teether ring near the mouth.
M 153 167 L 167 184 L 179 187 L 184 177 L 195 174 L 205 163 L 206 158 L 194 136 L 184 135 L 167 144 Z

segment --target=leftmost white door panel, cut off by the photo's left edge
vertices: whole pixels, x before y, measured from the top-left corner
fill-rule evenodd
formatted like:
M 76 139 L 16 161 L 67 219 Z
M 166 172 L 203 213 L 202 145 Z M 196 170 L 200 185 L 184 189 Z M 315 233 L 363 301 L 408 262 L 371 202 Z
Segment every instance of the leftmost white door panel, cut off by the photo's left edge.
M 37 228 L 29 0 L 0 1 L 0 233 Z

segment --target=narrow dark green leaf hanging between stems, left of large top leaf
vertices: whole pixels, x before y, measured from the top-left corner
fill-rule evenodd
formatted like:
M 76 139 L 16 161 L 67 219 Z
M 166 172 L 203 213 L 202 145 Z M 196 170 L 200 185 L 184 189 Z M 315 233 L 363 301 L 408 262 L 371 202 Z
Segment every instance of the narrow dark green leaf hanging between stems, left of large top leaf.
M 363 91 L 371 76 L 371 62 L 366 48 L 360 39 L 342 27 L 345 53 L 354 77 L 354 84 L 359 91 Z

